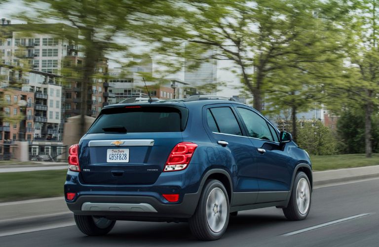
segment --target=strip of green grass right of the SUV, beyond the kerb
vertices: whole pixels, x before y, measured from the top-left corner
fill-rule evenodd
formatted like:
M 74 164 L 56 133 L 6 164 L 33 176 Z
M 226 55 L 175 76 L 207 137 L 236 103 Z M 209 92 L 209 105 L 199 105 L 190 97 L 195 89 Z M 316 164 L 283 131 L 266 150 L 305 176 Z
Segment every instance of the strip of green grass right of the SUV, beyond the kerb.
M 379 154 L 366 158 L 365 154 L 311 156 L 312 168 L 318 170 L 332 170 L 341 168 L 379 165 Z

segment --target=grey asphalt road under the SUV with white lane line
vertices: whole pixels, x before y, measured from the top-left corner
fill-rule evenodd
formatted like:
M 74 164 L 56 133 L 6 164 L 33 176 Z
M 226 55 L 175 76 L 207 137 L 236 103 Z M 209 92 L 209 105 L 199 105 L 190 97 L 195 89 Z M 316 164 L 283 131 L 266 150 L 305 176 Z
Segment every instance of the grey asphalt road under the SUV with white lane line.
M 347 217 L 350 219 L 294 234 Z M 303 221 L 287 221 L 281 209 L 272 207 L 239 212 L 229 221 L 224 237 L 214 242 L 197 241 L 186 223 L 118 221 L 104 237 L 84 236 L 76 226 L 55 227 L 58 228 L 0 237 L 0 246 L 378 247 L 379 179 L 315 189 L 311 211 Z

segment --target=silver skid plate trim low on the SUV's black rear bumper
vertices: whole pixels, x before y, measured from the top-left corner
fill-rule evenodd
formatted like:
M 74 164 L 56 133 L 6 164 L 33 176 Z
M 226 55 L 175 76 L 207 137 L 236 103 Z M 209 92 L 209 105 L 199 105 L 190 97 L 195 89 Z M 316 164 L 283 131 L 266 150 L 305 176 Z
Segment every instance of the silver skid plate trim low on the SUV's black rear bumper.
M 82 211 L 118 211 L 118 212 L 153 212 L 156 209 L 147 203 L 130 204 L 130 203 L 83 203 Z

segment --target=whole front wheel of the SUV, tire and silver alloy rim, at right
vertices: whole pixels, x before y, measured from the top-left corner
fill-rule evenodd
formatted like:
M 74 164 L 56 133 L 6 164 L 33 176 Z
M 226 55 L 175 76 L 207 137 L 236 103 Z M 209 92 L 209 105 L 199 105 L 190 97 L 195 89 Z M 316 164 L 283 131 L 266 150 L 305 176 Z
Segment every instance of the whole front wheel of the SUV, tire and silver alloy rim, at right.
M 303 220 L 308 216 L 311 202 L 309 179 L 302 171 L 295 177 L 290 202 L 283 208 L 284 216 L 289 220 Z

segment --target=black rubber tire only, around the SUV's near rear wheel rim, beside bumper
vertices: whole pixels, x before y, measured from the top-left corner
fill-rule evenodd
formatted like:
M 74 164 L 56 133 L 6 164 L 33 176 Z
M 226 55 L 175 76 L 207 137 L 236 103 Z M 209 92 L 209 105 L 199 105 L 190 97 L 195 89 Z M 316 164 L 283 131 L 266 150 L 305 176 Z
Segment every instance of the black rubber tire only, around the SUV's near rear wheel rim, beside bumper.
M 226 208 L 218 207 L 215 204 L 215 217 L 217 217 L 217 214 L 220 212 L 220 217 L 223 218 L 225 217 L 225 211 L 226 209 L 226 220 L 224 224 L 218 225 L 219 227 L 222 226 L 222 229 L 215 232 L 211 229 L 208 219 L 207 219 L 207 202 L 208 202 L 208 197 L 210 196 L 210 193 L 214 192 L 214 189 L 216 189 L 217 192 L 222 191 L 226 198 Z M 220 189 L 220 190 L 218 190 Z M 219 194 L 219 195 L 220 195 Z M 210 201 L 211 204 L 211 201 Z M 222 205 L 220 203 L 220 205 Z M 220 209 L 220 210 L 219 210 Z M 224 220 L 221 220 L 223 222 Z M 212 240 L 218 240 L 220 239 L 225 231 L 227 230 L 227 224 L 229 222 L 229 198 L 227 196 L 227 190 L 225 189 L 224 185 L 219 181 L 215 179 L 208 180 L 205 183 L 204 189 L 201 193 L 199 203 L 196 207 L 195 213 L 192 215 L 191 218 L 189 218 L 189 228 L 192 232 L 192 234 L 198 238 L 199 240 L 205 240 L 205 241 L 212 241 Z

